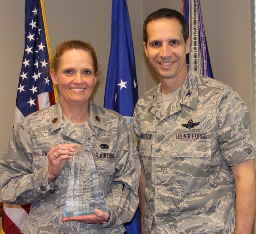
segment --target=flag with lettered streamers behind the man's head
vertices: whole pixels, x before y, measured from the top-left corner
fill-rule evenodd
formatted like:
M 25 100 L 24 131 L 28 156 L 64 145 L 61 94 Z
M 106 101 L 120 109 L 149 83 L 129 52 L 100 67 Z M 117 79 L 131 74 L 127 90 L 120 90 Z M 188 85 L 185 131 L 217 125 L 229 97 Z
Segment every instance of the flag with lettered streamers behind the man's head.
M 213 78 L 200 0 L 182 0 L 182 13 L 187 20 L 190 37 L 187 63 L 199 74 Z

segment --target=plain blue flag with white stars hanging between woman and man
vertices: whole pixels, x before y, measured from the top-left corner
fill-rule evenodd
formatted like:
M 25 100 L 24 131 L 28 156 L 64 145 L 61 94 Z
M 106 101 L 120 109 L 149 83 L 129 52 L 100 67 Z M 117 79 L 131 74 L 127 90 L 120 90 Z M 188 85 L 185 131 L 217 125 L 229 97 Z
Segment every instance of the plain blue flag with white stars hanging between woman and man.
M 105 88 L 104 107 L 117 111 L 132 127 L 134 107 L 138 101 L 136 66 L 132 32 L 126 0 L 112 1 L 111 51 Z M 127 234 L 139 234 L 139 210 L 125 224 Z

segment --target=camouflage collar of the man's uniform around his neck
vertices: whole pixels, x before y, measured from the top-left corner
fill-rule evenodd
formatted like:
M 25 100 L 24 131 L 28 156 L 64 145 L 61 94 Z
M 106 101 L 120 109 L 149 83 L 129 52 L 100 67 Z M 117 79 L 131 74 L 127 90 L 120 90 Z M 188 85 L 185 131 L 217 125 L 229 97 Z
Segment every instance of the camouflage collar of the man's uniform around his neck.
M 156 86 L 152 99 L 149 103 L 148 111 L 155 114 L 157 118 L 163 119 L 178 112 L 181 109 L 181 105 L 186 105 L 194 110 L 197 109 L 199 74 L 197 74 L 189 65 L 188 67 L 189 70 L 183 85 L 181 86 L 180 92 L 176 97 L 174 97 L 165 113 L 162 112 L 161 84 Z

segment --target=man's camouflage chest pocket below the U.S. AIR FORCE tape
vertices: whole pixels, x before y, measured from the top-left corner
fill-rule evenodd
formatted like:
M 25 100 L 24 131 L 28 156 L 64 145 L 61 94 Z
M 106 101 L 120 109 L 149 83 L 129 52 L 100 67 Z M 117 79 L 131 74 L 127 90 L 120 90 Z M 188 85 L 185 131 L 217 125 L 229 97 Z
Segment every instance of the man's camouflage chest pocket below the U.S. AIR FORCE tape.
M 172 144 L 173 192 L 207 192 L 210 189 L 211 135 L 189 133 L 190 138 L 187 138 L 185 134 L 174 136 L 176 139 Z

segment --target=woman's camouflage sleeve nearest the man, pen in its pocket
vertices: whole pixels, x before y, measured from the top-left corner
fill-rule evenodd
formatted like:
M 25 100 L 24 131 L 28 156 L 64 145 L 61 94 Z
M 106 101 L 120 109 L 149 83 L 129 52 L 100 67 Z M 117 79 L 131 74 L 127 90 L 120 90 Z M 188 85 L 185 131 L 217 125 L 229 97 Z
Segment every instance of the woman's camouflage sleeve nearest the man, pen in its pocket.
M 117 164 L 106 203 L 111 217 L 105 227 L 118 226 L 132 220 L 139 204 L 140 166 L 131 131 L 124 119 L 117 133 Z

